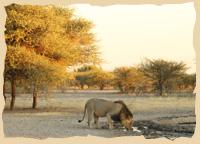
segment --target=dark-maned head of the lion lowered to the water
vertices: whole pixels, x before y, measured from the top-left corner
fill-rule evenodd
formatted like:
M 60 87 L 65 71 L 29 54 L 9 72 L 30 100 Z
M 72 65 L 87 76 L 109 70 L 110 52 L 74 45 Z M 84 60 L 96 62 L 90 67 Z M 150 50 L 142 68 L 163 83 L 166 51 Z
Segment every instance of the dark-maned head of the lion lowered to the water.
M 126 104 L 123 101 L 115 101 L 115 103 L 120 103 L 122 105 L 122 109 L 118 115 L 118 119 L 121 124 L 128 130 L 132 130 L 133 126 L 133 114 L 128 109 Z

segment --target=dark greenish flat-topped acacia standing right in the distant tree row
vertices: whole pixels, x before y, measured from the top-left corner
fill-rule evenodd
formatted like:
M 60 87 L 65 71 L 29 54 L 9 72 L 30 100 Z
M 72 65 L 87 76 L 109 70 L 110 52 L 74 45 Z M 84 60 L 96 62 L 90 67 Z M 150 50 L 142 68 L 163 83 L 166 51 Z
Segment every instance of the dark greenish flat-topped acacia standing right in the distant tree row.
M 162 59 L 146 59 L 140 65 L 140 71 L 152 79 L 154 88 L 159 90 L 159 95 L 163 95 L 163 88 L 166 82 L 183 75 L 186 71 L 186 65 L 182 62 L 165 61 Z

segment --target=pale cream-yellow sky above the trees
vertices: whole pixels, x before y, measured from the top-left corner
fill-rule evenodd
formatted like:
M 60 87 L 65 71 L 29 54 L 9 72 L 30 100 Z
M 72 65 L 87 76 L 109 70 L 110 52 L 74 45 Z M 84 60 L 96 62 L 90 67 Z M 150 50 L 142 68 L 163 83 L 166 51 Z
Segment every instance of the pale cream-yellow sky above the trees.
M 193 3 L 91 6 L 76 4 L 77 16 L 94 23 L 105 61 L 103 69 L 133 66 L 144 58 L 183 61 L 196 72 L 193 48 Z

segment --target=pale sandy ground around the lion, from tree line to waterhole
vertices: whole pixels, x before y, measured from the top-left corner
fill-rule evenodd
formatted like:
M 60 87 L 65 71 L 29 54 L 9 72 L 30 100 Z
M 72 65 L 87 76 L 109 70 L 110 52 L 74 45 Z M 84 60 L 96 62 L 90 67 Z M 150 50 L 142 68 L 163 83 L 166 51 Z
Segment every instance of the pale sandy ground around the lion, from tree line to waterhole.
M 9 95 L 8 95 L 9 97 Z M 116 123 L 113 130 L 107 127 L 106 118 L 100 118 L 100 129 L 89 129 L 82 118 L 85 102 L 92 97 L 123 100 L 134 115 L 134 131 L 125 131 Z M 20 94 L 16 107 L 10 111 L 9 98 L 3 113 L 6 137 L 69 137 L 69 136 L 136 136 L 146 138 L 191 137 L 195 129 L 194 96 L 142 96 L 112 92 L 68 92 L 41 95 L 38 108 L 32 110 L 31 95 Z

